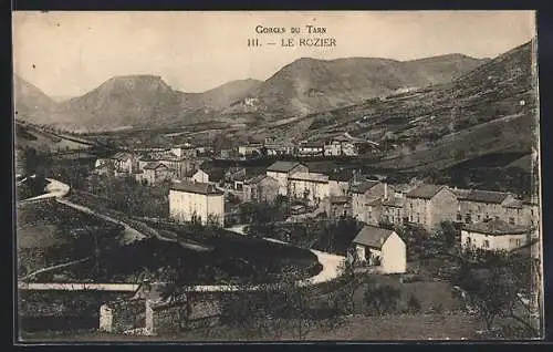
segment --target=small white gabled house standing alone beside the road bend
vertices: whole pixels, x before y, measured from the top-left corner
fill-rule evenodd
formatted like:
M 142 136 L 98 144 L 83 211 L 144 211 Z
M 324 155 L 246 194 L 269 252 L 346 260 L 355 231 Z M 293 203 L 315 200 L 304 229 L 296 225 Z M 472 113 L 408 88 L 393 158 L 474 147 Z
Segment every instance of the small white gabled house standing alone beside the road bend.
M 377 266 L 382 273 L 407 271 L 405 241 L 394 231 L 375 226 L 365 226 L 353 240 L 356 259 Z

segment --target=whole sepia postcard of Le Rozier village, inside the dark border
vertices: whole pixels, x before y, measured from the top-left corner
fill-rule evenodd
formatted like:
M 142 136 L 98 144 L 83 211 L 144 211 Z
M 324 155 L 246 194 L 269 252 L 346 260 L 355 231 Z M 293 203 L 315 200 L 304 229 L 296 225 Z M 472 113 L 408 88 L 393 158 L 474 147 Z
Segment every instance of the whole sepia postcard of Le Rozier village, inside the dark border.
M 13 11 L 17 343 L 544 338 L 535 11 Z

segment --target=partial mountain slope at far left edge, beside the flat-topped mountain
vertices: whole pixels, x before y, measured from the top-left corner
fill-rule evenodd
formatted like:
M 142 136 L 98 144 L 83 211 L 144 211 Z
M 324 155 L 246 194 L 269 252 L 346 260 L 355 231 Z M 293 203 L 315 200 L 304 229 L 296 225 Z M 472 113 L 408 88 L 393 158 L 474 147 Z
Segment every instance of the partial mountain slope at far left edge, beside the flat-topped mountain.
M 13 100 L 18 120 L 48 123 L 49 113 L 56 106 L 51 97 L 17 74 L 13 75 Z

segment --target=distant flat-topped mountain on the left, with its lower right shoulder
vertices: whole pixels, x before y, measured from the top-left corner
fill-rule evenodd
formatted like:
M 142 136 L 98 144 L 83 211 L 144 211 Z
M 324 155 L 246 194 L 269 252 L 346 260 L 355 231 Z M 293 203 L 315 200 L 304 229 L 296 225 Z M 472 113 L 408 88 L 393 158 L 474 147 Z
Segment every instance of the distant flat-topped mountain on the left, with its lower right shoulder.
M 240 99 L 259 81 L 228 82 L 204 93 L 171 89 L 157 75 L 115 76 L 93 91 L 60 102 L 58 125 L 73 131 L 113 131 L 131 127 L 187 125 Z

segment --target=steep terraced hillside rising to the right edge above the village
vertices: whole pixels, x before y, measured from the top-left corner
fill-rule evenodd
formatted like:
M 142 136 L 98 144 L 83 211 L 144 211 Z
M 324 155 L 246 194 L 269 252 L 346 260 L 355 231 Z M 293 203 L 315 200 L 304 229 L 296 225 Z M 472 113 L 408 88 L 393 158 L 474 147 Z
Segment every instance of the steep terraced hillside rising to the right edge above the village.
M 538 102 L 528 42 L 447 84 L 313 114 L 275 127 L 298 138 L 336 133 L 378 141 L 397 170 L 441 169 L 489 153 L 530 154 L 536 144 Z

